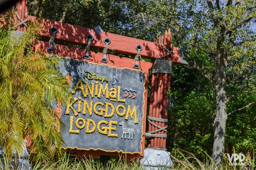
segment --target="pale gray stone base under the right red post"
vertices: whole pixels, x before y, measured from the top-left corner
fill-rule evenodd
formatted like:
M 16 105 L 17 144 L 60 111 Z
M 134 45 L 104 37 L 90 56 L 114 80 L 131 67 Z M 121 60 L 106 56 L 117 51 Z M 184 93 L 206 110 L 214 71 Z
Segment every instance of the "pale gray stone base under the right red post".
M 145 148 L 144 157 L 140 160 L 140 164 L 144 166 L 145 170 L 164 170 L 166 167 L 172 166 L 170 152 Z

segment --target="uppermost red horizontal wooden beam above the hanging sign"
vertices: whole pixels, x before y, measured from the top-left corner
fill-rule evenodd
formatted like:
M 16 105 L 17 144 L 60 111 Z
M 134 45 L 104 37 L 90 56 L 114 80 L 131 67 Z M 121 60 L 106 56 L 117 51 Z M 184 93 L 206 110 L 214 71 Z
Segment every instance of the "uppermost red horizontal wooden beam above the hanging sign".
M 29 20 L 36 21 L 38 20 L 38 18 L 29 15 Z M 118 53 L 136 55 L 137 50 L 135 47 L 138 44 L 140 44 L 143 48 L 143 50 L 140 52 L 140 55 L 143 58 L 156 59 L 166 54 L 166 51 L 162 50 L 162 47 L 159 43 L 139 40 L 136 38 L 126 37 L 126 36 L 112 34 L 108 32 L 102 32 L 100 35 L 98 35 L 94 29 L 90 29 L 90 28 L 75 26 L 71 24 L 65 24 L 65 23 L 51 21 L 47 19 L 42 19 L 41 21 L 42 21 L 42 26 L 45 27 L 45 29 L 43 29 L 40 35 L 45 38 L 52 37 L 50 28 L 55 26 L 58 29 L 58 33 L 55 36 L 55 40 L 85 45 L 88 43 L 86 36 L 88 34 L 92 34 L 92 36 L 94 37 L 94 40 L 92 41 L 91 47 L 104 48 L 105 43 L 103 42 L 103 40 L 108 37 L 111 40 L 111 44 L 109 44 L 108 47 L 109 48 L 115 47 L 116 48 L 115 51 Z M 180 55 L 178 53 L 177 47 L 174 47 L 173 63 L 174 64 L 180 63 Z

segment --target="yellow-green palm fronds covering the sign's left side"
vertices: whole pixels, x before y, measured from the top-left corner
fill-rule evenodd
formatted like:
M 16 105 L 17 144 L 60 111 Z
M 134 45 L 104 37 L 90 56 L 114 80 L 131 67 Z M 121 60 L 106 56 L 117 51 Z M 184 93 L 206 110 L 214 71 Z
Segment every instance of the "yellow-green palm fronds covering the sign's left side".
M 12 27 L 11 13 L 6 15 Z M 51 160 L 62 153 L 63 140 L 57 132 L 60 119 L 47 103 L 68 102 L 71 95 L 65 77 L 56 70 L 59 58 L 33 52 L 39 24 L 28 24 L 18 41 L 12 29 L 0 28 L 0 145 L 6 155 L 22 153 L 25 139 L 32 140 L 32 160 Z

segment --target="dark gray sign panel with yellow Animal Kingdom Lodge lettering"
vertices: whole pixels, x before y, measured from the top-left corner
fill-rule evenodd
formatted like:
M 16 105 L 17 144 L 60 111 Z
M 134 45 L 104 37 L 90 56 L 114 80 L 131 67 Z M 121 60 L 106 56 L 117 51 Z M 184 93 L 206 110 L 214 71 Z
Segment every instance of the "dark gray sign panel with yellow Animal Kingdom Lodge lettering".
M 67 58 L 60 72 L 73 76 L 61 116 L 66 148 L 140 153 L 144 73 Z

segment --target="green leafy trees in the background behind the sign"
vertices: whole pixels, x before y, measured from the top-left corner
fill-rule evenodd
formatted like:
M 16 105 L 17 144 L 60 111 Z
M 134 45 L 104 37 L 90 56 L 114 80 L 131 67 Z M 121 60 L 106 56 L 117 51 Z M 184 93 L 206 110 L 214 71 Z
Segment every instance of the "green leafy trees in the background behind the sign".
M 231 113 L 225 152 L 232 152 L 233 146 L 243 153 L 255 148 L 255 11 L 253 0 L 29 1 L 31 15 L 85 27 L 101 25 L 104 31 L 144 40 L 153 41 L 159 31 L 171 28 L 174 46 L 189 49 L 190 58 L 185 56 L 188 67 L 173 70 L 167 147 L 200 158 L 202 150 L 212 151 L 220 60 L 224 109 Z M 220 60 L 218 49 L 223 50 Z

